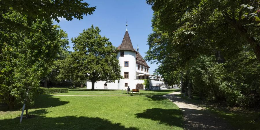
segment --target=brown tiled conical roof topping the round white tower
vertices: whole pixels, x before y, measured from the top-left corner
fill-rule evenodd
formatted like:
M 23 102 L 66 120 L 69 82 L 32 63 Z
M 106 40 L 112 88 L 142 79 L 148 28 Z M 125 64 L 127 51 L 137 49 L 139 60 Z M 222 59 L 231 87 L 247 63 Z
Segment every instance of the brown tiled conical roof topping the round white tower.
M 121 45 L 118 47 L 118 49 L 120 51 L 122 51 L 122 50 L 135 51 L 133 49 L 133 45 L 132 45 L 132 42 L 131 42 L 131 39 L 130 39 L 130 36 L 129 36 L 127 30 L 125 31 L 125 36 L 123 38 Z

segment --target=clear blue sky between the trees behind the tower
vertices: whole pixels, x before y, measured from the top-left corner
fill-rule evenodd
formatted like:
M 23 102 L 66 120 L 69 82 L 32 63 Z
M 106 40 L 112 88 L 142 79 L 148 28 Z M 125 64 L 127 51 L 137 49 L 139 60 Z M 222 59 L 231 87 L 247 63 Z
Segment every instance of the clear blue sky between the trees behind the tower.
M 61 29 L 66 31 L 69 40 L 79 35 L 83 29 L 89 28 L 92 24 L 101 29 L 101 36 L 106 36 L 109 41 L 118 47 L 123 40 L 127 30 L 131 38 L 133 48 L 139 46 L 139 53 L 144 57 L 148 51 L 147 38 L 152 33 L 151 19 L 153 10 L 151 5 L 146 4 L 145 0 L 86 0 L 90 7 L 96 6 L 96 11 L 92 15 L 83 16 L 83 20 L 74 19 L 66 21 L 60 18 Z M 72 43 L 70 40 L 70 51 Z M 156 64 L 150 64 L 150 74 L 157 68 Z

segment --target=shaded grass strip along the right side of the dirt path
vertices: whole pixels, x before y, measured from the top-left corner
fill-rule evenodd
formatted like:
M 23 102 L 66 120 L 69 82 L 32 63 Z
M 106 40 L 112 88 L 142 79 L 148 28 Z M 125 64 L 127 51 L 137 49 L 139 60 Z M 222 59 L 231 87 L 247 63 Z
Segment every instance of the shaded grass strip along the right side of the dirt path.
M 181 96 L 181 94 L 176 94 Z M 228 107 L 218 107 L 210 103 L 205 103 L 205 101 L 200 100 L 198 97 L 194 96 L 193 99 L 189 99 L 188 96 L 182 97 L 186 101 L 192 104 L 200 105 L 205 107 L 207 110 L 216 114 L 217 116 L 226 120 L 233 128 L 241 130 L 259 130 L 260 129 L 260 112 L 254 110 L 243 110 L 241 108 L 228 108 Z

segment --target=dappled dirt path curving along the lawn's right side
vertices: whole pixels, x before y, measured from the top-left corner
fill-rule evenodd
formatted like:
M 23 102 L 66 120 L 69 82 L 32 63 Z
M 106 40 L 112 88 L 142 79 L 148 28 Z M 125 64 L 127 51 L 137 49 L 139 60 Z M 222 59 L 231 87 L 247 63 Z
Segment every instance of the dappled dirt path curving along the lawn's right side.
M 173 92 L 165 95 L 164 97 L 170 99 L 175 103 L 182 111 L 184 118 L 184 126 L 187 130 L 229 130 L 231 127 L 222 120 L 220 117 L 211 114 L 208 110 L 197 105 L 193 105 L 179 96 L 174 94 L 180 94 L 180 92 Z

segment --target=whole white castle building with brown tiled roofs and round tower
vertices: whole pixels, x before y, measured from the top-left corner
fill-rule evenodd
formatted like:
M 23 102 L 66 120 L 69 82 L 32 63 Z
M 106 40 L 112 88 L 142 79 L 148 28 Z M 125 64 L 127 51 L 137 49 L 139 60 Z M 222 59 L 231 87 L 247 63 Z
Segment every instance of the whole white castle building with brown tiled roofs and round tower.
M 133 49 L 133 45 L 126 30 L 125 36 L 121 45 L 118 47 L 119 52 L 117 54 L 117 59 L 121 66 L 121 75 L 123 79 L 116 80 L 114 83 L 107 83 L 106 81 L 97 81 L 95 83 L 95 89 L 144 89 L 144 80 L 148 79 L 149 76 L 149 66 L 145 62 L 144 58 L 137 50 Z M 152 81 L 152 83 L 163 83 L 162 81 Z M 87 89 L 91 89 L 91 82 L 87 82 Z

